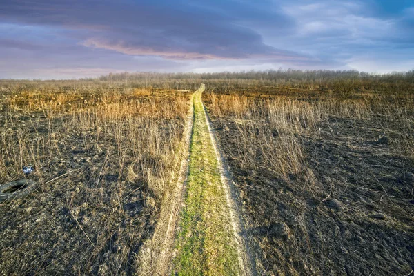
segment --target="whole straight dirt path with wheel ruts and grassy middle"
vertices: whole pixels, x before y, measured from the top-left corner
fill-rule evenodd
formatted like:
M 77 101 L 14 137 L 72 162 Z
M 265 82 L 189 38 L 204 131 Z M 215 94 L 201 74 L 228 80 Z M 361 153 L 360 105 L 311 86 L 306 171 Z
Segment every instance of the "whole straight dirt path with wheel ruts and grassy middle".
M 139 256 L 142 275 L 254 274 L 235 189 L 201 101 L 204 88 L 191 99 L 177 156 L 179 175 L 161 206 L 155 234 Z

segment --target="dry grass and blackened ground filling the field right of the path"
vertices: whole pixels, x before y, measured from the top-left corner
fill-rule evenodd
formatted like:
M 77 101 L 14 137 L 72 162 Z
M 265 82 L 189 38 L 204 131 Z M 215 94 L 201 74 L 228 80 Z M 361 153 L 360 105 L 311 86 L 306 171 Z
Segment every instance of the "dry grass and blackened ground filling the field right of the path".
M 412 215 L 408 214 L 412 205 L 408 199 L 412 199 L 413 190 L 412 184 L 399 177 L 404 171 L 412 171 L 411 95 L 390 99 L 367 91 L 356 95 L 353 90 L 304 91 L 292 95 L 278 90 L 261 91 L 210 93 L 205 99 L 230 169 L 243 191 L 250 213 L 245 219 L 251 219 L 253 239 L 262 247 L 263 272 L 311 275 L 346 269 L 351 273 L 356 271 L 355 267 L 363 271 L 367 266 L 382 264 L 386 264 L 381 268 L 383 273 L 394 269 L 390 268 L 394 266 L 392 262 L 377 262 L 377 256 L 369 253 L 363 254 L 369 262 L 342 255 L 353 244 L 338 233 L 338 224 L 340 228 L 351 228 L 347 231 L 363 239 L 375 237 L 377 231 L 386 229 L 384 235 L 402 246 L 399 250 L 390 249 L 387 254 L 404 256 L 405 261 L 400 260 L 404 266 L 399 269 L 409 273 L 410 247 L 404 246 L 404 239 L 412 235 L 403 233 L 411 225 Z M 388 141 L 378 142 L 382 136 Z M 348 175 L 351 180 L 346 179 Z M 359 194 L 360 189 L 377 188 L 380 190 L 371 198 L 362 199 Z M 384 197 L 390 201 L 385 203 Z M 377 221 L 366 217 L 372 212 L 372 205 L 360 205 L 358 200 L 373 204 L 382 201 L 382 207 L 375 205 L 374 210 L 398 218 L 386 218 L 386 224 L 376 226 Z M 332 212 L 335 221 L 340 221 L 337 224 L 331 221 Z M 357 222 L 348 226 L 347 221 Z M 370 225 L 372 232 L 364 233 L 356 224 Z M 282 226 L 290 228 L 290 232 L 272 230 L 283 229 Z M 401 234 L 394 237 L 393 231 Z M 339 267 L 339 261 L 332 260 L 337 255 L 342 256 L 339 259 L 349 259 L 346 262 L 353 262 L 352 266 Z

